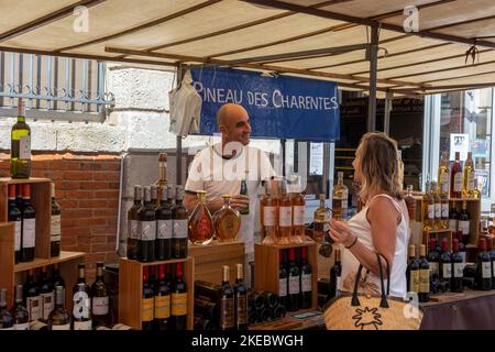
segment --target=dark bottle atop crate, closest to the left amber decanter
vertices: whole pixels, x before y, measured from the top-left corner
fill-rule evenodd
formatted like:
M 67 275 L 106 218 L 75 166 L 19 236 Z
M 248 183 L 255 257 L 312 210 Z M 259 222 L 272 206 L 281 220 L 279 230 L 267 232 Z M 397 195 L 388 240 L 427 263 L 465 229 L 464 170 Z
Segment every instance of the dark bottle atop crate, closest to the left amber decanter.
M 188 213 L 183 205 L 184 187 L 177 186 L 176 204 L 172 209 L 174 218 L 174 234 L 172 238 L 172 256 L 174 258 L 187 257 Z

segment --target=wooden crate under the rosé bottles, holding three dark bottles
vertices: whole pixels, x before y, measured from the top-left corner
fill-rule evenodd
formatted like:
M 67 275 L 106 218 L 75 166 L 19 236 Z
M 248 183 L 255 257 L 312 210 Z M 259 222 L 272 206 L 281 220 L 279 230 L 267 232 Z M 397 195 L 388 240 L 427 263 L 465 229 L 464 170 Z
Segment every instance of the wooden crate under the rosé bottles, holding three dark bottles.
M 312 268 L 311 285 L 311 309 L 318 309 L 318 260 L 317 243 L 306 242 L 301 244 L 287 245 L 254 245 L 254 288 L 278 293 L 278 257 L 280 250 L 308 248 L 308 263 Z

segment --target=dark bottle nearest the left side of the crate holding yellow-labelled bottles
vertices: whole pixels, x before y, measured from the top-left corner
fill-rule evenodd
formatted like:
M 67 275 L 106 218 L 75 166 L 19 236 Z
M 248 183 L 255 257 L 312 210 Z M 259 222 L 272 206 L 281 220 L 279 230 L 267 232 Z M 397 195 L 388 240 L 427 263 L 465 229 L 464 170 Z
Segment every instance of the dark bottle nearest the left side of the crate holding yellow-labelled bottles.
M 107 284 L 103 282 L 103 262 L 97 263 L 97 277 L 91 285 L 91 312 L 95 329 L 110 324 L 110 298 Z

